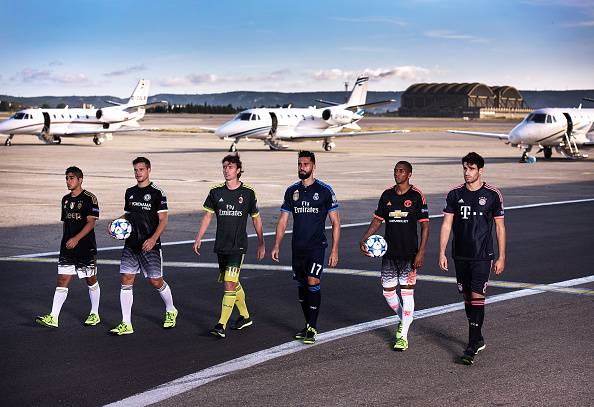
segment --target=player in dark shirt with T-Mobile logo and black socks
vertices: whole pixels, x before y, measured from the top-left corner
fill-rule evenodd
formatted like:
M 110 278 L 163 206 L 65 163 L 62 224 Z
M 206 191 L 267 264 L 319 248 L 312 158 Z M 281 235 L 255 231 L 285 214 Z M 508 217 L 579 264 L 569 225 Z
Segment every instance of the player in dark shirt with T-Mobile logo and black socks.
M 472 365 L 476 354 L 485 349 L 481 328 L 485 317 L 489 274 L 491 270 L 501 274 L 505 268 L 503 196 L 497 188 L 482 181 L 484 166 L 483 157 L 475 152 L 462 158 L 464 183 L 447 195 L 439 237 L 439 267 L 447 271 L 445 252 L 453 228 L 452 257 L 458 291 L 464 295 L 468 318 L 468 346 L 461 357 L 462 363 L 467 365 Z M 495 263 L 493 223 L 499 248 Z

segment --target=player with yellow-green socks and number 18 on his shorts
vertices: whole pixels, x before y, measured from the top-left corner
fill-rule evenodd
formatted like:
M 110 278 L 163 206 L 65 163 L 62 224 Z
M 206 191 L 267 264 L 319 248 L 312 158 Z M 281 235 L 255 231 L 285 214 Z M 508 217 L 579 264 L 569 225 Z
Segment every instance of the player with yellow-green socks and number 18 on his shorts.
M 221 304 L 221 317 L 210 330 L 210 334 L 218 338 L 226 337 L 227 322 L 235 306 L 239 311 L 239 317 L 231 329 L 244 329 L 253 324 L 245 302 L 245 291 L 239 282 L 241 265 L 248 247 L 246 233 L 248 215 L 252 218 L 258 235 L 256 259 L 262 260 L 266 250 L 256 191 L 239 180 L 242 174 L 239 155 L 230 154 L 224 157 L 222 164 L 225 182 L 210 189 L 204 201 L 204 215 L 194 241 L 194 252 L 200 255 L 202 237 L 214 214 L 217 218 L 214 252 L 219 261 L 219 282 L 223 283 L 225 290 Z

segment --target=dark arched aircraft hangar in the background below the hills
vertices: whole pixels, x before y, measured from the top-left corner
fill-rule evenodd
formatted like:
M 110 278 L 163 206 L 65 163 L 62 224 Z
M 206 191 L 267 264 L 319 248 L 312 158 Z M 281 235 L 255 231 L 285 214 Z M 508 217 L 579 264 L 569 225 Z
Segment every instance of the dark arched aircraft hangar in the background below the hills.
M 522 94 L 513 86 L 483 83 L 416 83 L 401 97 L 400 116 L 513 117 L 528 112 Z

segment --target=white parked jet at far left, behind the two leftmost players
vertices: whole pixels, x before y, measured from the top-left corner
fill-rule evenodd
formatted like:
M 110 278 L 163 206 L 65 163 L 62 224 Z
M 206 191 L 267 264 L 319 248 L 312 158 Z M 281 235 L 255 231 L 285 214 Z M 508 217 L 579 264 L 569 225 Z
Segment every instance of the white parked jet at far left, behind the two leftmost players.
M 141 79 L 127 103 L 106 101 L 113 106 L 101 109 L 40 109 L 21 110 L 0 123 L 0 134 L 8 134 L 5 146 L 12 144 L 16 134 L 35 135 L 46 144 L 60 144 L 62 137 L 92 136 L 96 145 L 111 139 L 113 133 L 145 130 L 138 120 L 149 106 L 167 102 L 147 103 L 150 81 Z

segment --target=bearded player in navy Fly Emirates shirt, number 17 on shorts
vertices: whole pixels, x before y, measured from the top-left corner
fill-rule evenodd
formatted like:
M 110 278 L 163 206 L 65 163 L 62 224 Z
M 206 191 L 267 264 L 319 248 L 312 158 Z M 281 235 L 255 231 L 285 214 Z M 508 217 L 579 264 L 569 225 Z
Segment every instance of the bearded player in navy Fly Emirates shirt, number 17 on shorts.
M 316 158 L 310 151 L 299 153 L 297 170 L 301 181 L 287 188 L 276 227 L 272 259 L 279 261 L 280 244 L 285 235 L 289 214 L 293 214 L 292 264 L 293 279 L 299 285 L 298 295 L 305 316 L 305 328 L 294 338 L 305 344 L 315 342 L 320 312 L 320 278 L 324 269 L 326 217 L 332 223 L 332 247 L 328 266 L 338 263 L 340 216 L 336 195 L 330 187 L 314 178 Z

